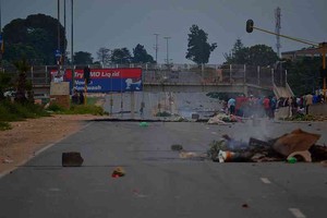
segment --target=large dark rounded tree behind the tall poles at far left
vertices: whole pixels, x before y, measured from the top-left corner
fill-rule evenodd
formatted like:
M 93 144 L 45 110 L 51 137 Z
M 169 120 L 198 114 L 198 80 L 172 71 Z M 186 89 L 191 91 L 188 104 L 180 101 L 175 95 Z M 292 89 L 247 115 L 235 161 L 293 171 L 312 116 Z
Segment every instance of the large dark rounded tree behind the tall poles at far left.
M 45 14 L 16 19 L 3 28 L 3 59 L 12 62 L 26 57 L 28 62 L 55 64 L 58 49 L 58 20 Z M 64 51 L 65 33 L 60 24 L 60 50 Z M 26 48 L 29 50 L 26 53 Z

